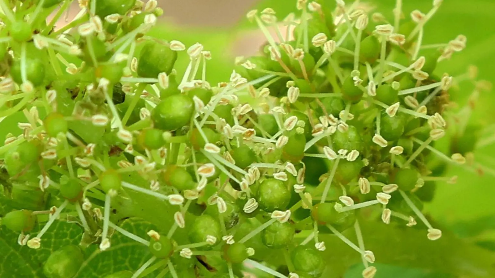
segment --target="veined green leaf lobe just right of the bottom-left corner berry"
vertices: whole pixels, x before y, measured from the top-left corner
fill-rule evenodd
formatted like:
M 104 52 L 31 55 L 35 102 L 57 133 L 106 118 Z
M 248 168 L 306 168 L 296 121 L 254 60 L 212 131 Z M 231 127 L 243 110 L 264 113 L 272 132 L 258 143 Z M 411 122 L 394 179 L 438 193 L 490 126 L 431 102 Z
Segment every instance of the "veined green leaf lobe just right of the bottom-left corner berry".
M 149 222 L 136 218 L 127 219 L 119 226 L 145 239 L 149 238 L 147 232 L 155 229 Z M 123 270 L 135 272 L 151 258 L 148 246 L 119 232 L 113 233 L 111 247 L 106 251 L 101 252 L 98 245 L 92 245 L 86 253 L 86 261 L 74 278 L 101 278 Z M 157 273 L 153 272 L 147 277 L 156 277 Z

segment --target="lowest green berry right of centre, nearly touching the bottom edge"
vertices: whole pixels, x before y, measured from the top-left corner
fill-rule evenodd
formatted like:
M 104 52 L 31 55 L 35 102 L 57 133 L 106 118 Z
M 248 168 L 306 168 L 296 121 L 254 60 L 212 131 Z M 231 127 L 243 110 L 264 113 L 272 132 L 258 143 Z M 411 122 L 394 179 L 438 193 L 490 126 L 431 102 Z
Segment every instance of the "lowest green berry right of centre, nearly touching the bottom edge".
M 318 278 L 325 270 L 321 251 L 307 245 L 299 245 L 291 252 L 291 260 L 296 271 L 304 272 L 312 278 Z

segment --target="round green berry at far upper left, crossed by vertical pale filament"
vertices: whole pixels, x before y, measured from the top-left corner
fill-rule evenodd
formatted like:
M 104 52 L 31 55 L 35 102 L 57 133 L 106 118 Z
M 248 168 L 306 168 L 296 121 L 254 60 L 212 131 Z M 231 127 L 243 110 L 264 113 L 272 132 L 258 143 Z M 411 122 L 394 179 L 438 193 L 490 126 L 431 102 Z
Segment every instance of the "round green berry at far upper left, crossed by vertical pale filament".
M 14 60 L 10 67 L 10 75 L 12 80 L 17 84 L 22 84 L 21 61 Z M 45 79 L 45 63 L 39 57 L 32 55 L 26 56 L 26 78 L 33 86 L 39 86 Z

